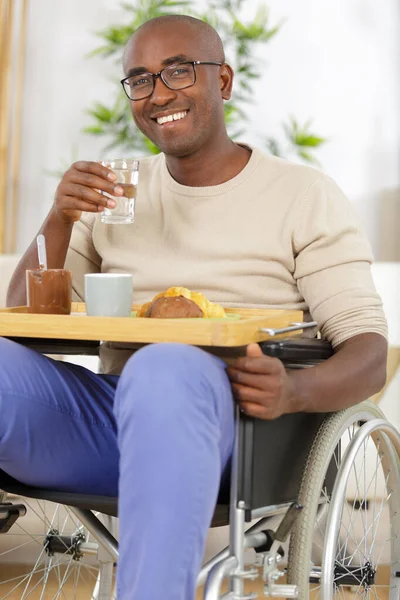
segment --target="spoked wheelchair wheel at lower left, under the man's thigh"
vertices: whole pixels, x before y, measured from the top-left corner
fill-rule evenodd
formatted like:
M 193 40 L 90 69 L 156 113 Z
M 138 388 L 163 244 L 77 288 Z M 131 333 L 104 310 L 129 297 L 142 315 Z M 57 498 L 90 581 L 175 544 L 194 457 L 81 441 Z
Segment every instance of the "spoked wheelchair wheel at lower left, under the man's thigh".
M 0 534 L 1 600 L 115 599 L 111 557 L 67 506 L 14 495 L 2 501 L 26 514 Z

